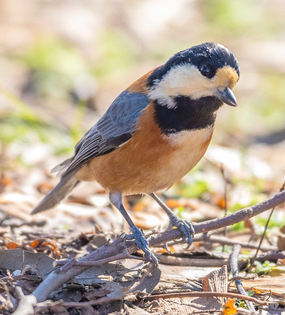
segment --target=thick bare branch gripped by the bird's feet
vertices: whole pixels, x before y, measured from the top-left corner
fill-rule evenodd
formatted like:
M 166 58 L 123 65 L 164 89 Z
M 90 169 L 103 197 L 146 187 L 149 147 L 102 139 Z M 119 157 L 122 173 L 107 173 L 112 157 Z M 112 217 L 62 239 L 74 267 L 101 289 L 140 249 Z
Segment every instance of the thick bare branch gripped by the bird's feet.
M 199 224 L 195 224 L 196 233 L 204 233 L 212 231 L 221 227 L 228 225 L 233 225 L 235 223 L 248 220 L 255 215 L 258 215 L 266 210 L 272 209 L 285 202 L 285 191 L 282 191 L 275 196 L 265 200 L 262 203 L 258 203 L 254 206 L 244 208 L 233 214 L 226 215 L 225 217 L 214 219 Z M 159 233 L 156 235 L 151 235 L 148 240 L 150 247 L 157 246 L 162 243 L 166 243 L 175 239 L 181 238 L 180 231 L 178 229 L 173 229 Z M 125 241 L 125 234 L 119 236 L 113 243 L 106 244 L 96 251 L 90 253 L 89 255 L 80 259 L 80 261 L 98 261 L 108 257 L 121 254 L 125 248 L 128 248 L 128 252 L 134 253 L 138 247 L 133 241 Z M 55 268 L 48 277 L 33 291 L 37 299 L 37 302 L 43 302 L 47 299 L 48 295 L 55 289 L 60 288 L 68 280 L 74 278 L 80 273 L 87 270 L 89 266 L 72 266 L 69 270 L 62 272 L 60 267 Z

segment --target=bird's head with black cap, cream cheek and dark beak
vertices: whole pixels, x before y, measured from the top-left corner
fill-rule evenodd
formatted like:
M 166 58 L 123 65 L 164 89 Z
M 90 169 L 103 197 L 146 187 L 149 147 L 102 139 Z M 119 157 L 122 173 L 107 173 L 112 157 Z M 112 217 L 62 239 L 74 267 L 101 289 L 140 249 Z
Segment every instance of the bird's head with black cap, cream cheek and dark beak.
M 223 45 L 203 43 L 180 51 L 148 78 L 149 96 L 171 108 L 173 99 L 214 97 L 237 106 L 232 92 L 239 79 L 236 56 Z M 222 104 L 222 103 L 221 103 Z

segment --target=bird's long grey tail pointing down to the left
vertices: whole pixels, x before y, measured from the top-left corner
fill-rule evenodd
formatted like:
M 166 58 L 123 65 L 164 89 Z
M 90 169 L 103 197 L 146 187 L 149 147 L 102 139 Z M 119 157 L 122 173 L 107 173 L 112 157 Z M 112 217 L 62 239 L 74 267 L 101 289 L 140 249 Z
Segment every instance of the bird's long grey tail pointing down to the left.
M 62 176 L 60 182 L 43 198 L 43 200 L 37 205 L 31 212 L 31 215 L 35 213 L 48 210 L 56 206 L 62 199 L 64 199 L 71 190 L 80 183 L 74 175 L 77 169 Z

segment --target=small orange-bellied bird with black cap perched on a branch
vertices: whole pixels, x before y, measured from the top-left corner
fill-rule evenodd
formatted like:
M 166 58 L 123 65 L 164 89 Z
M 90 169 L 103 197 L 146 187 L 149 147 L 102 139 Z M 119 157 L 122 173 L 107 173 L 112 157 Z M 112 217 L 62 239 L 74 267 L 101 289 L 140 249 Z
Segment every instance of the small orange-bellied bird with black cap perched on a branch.
M 153 198 L 178 228 L 188 247 L 191 222 L 179 218 L 155 194 L 167 190 L 200 161 L 212 139 L 218 109 L 237 106 L 232 92 L 240 76 L 237 57 L 217 43 L 202 43 L 174 54 L 140 77 L 110 105 L 103 117 L 57 165 L 60 182 L 31 214 L 53 208 L 82 181 L 97 181 L 127 221 L 144 252 L 158 265 L 149 243 L 131 220 L 123 196 Z

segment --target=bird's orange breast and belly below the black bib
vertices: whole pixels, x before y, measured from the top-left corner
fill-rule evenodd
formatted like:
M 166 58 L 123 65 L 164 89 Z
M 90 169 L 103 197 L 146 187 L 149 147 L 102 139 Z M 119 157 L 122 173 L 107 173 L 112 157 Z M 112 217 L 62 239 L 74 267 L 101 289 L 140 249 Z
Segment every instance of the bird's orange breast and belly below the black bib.
M 138 131 L 123 146 L 95 157 L 76 173 L 97 181 L 107 192 L 151 193 L 172 186 L 202 158 L 213 128 L 183 131 L 167 137 L 154 123 L 152 102 L 142 111 Z

